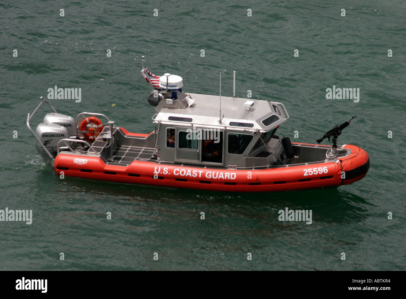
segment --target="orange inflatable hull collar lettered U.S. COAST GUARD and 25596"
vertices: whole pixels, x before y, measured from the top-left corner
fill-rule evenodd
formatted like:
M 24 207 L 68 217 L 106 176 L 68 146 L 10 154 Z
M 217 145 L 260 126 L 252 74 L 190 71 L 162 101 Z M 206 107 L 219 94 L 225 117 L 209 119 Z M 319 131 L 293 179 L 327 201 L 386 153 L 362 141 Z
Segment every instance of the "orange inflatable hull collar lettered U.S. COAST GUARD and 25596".
M 301 143 L 303 144 L 303 143 Z M 55 159 L 58 175 L 93 180 L 203 189 L 227 192 L 271 192 L 341 186 L 361 180 L 369 157 L 358 146 L 345 145 L 350 156 L 338 163 L 280 166 L 258 170 L 208 169 L 133 161 L 128 166 L 106 165 L 98 157 L 60 153 Z

